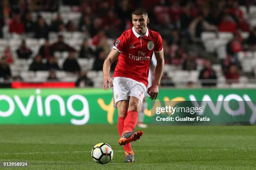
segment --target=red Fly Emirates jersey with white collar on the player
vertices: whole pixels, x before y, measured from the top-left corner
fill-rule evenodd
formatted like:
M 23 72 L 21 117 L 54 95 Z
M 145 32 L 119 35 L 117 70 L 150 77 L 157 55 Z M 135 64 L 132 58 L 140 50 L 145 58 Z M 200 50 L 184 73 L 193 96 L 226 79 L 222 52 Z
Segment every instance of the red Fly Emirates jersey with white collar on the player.
M 153 52 L 163 50 L 159 33 L 147 28 L 145 35 L 141 36 L 131 28 L 115 40 L 113 49 L 120 52 L 113 77 L 131 78 L 147 87 Z

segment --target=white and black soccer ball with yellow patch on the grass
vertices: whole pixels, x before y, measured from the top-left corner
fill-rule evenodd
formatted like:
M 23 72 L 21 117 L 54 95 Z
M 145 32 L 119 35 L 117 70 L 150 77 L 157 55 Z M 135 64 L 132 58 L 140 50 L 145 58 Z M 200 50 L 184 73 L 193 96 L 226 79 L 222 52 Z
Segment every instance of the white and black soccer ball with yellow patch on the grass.
M 113 158 L 113 150 L 107 143 L 98 143 L 92 148 L 92 159 L 99 164 L 108 163 Z

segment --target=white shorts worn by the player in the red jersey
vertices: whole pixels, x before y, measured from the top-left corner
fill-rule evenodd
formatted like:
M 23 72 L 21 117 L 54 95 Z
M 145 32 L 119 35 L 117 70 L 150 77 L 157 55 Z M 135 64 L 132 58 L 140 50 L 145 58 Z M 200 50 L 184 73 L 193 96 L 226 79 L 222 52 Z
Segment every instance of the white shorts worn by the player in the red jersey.
M 113 79 L 113 100 L 114 107 L 120 100 L 129 100 L 130 96 L 134 96 L 141 101 L 146 95 L 146 85 L 127 77 L 114 77 Z

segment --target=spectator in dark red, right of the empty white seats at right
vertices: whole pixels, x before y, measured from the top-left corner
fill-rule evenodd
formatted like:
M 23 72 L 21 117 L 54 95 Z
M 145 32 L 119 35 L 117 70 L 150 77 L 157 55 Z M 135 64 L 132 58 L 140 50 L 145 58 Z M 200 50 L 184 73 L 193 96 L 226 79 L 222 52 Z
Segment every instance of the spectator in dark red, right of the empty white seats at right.
M 233 39 L 230 40 L 230 42 L 228 42 L 226 45 L 228 55 L 235 55 L 243 50 L 241 35 L 238 32 L 234 33 L 233 35 Z

